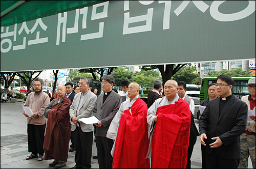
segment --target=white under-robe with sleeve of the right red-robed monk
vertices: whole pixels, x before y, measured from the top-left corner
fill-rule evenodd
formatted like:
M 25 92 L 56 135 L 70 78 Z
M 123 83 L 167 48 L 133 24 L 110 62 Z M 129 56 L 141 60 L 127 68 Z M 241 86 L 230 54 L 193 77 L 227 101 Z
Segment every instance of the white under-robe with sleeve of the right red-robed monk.
M 153 124 L 154 118 L 157 116 L 157 108 L 163 105 L 175 104 L 176 101 L 179 100 L 179 95 L 176 94 L 175 98 L 169 103 L 168 98 L 164 96 L 163 98 L 157 99 L 150 108 L 147 110 L 147 123 L 148 123 L 148 136 L 150 137 L 150 145 L 148 146 L 148 151 L 146 158 L 151 158 L 152 151 L 152 135 L 153 135 Z

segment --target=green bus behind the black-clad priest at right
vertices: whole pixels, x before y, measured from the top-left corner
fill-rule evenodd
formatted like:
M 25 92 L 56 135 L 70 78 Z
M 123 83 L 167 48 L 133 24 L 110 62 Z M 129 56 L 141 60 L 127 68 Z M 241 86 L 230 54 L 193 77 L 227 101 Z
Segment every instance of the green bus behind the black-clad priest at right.
M 249 91 L 247 88 L 248 80 L 251 77 L 232 77 L 234 79 L 234 86 L 232 88 L 232 94 L 234 94 L 237 98 L 241 99 L 241 97 L 248 95 Z M 208 98 L 207 87 L 211 83 L 216 83 L 217 77 L 204 77 L 201 81 L 201 88 L 200 88 L 200 102 L 204 99 Z M 253 77 L 255 78 L 255 77 Z

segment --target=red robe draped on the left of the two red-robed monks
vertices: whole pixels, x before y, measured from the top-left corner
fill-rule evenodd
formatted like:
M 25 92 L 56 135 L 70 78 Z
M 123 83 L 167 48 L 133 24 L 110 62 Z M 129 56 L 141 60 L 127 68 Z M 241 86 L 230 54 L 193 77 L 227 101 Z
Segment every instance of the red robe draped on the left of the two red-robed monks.
M 112 167 L 150 168 L 150 159 L 145 159 L 148 150 L 147 105 L 137 98 L 129 109 L 123 111 L 119 121 Z

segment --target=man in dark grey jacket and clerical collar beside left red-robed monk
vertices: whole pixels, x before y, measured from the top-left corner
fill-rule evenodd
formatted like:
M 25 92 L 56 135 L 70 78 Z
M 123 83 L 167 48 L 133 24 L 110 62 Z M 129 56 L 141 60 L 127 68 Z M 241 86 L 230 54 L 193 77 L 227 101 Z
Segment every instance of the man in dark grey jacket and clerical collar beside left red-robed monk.
M 98 123 L 94 124 L 96 126 L 97 157 L 99 168 L 111 168 L 113 157 L 110 152 L 114 142 L 112 139 L 106 137 L 106 133 L 122 101 L 121 96 L 112 91 L 112 87 L 115 83 L 114 77 L 112 75 L 105 75 L 101 77 L 101 80 L 104 93 L 98 96 L 93 108 L 93 116 L 99 120 Z

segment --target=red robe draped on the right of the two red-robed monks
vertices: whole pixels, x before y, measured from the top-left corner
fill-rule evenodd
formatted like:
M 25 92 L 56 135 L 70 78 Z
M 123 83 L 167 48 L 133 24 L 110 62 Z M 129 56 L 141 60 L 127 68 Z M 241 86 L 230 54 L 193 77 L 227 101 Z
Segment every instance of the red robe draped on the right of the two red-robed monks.
M 190 114 L 189 104 L 181 98 L 176 104 L 158 107 L 151 168 L 186 168 Z

